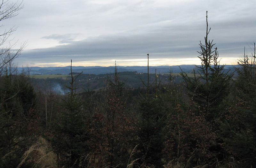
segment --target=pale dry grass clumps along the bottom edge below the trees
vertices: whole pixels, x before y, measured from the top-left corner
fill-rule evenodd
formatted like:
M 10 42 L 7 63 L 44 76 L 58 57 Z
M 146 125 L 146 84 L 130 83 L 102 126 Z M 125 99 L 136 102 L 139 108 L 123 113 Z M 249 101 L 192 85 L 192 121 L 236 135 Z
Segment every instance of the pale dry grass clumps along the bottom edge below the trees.
M 132 159 L 134 154 L 136 153 L 136 148 L 138 145 L 134 147 L 130 154 L 130 158 L 128 160 L 126 168 L 155 168 L 154 165 L 144 165 L 144 164 L 138 164 L 137 161 L 140 158 Z M 6 154 L 8 155 L 8 154 Z M 193 155 L 191 155 L 192 157 Z M 5 157 L 5 156 L 4 156 Z M 87 165 L 85 165 L 86 160 L 89 158 L 89 155 L 87 156 L 81 156 L 81 158 L 78 158 L 76 162 L 78 163 L 79 167 L 90 167 L 90 160 Z M 188 159 L 187 162 L 182 162 L 180 158 L 173 159 L 172 161 L 169 161 L 167 164 L 163 165 L 164 168 L 186 168 L 190 167 L 188 166 L 188 163 L 191 158 Z M 33 144 L 24 154 L 22 161 L 17 166 L 17 168 L 20 168 L 22 165 L 25 164 L 32 164 L 33 168 L 57 168 L 57 155 L 52 151 L 52 147 L 49 144 L 47 140 L 45 140 L 43 137 L 39 137 L 37 142 Z M 206 168 L 206 167 L 216 167 L 216 168 L 238 168 L 239 161 L 236 161 L 233 157 L 229 157 L 228 159 L 224 159 L 223 161 L 219 162 L 218 160 L 212 164 L 200 164 L 200 161 L 197 163 L 197 166 L 194 168 Z M 111 166 L 108 166 L 107 168 L 110 168 Z M 118 167 L 118 166 L 117 166 Z M 111 167 L 112 168 L 112 167 Z

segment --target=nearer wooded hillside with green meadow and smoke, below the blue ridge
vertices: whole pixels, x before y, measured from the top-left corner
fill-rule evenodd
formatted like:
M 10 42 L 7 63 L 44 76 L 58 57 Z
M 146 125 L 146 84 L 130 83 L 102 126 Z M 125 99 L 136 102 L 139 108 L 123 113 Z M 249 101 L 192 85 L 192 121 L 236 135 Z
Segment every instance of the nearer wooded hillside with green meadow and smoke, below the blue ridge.
M 84 74 L 82 73 L 77 78 L 77 87 L 79 92 L 83 92 L 85 88 L 88 89 L 90 84 L 90 90 L 101 89 L 106 87 L 108 79 L 113 77 L 114 73 L 108 74 Z M 192 74 L 191 74 L 192 75 Z M 175 82 L 184 81 L 179 73 L 173 73 Z M 142 81 L 147 81 L 147 73 L 137 73 L 137 72 L 120 72 L 119 73 L 120 81 L 124 82 L 124 88 L 142 88 Z M 65 85 L 68 85 L 68 82 L 71 79 L 71 75 L 31 75 L 33 78 L 33 85 L 35 88 L 52 88 L 53 91 L 59 94 L 65 93 Z M 168 84 L 169 73 L 160 73 L 157 74 L 157 84 Z M 154 73 L 149 74 L 150 82 L 155 82 L 156 75 Z

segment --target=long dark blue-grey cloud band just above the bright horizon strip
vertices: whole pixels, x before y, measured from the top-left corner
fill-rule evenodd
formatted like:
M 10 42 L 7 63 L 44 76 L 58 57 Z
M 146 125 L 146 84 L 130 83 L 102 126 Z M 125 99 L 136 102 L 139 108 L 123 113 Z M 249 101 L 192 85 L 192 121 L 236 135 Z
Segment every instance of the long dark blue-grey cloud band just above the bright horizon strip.
M 170 27 L 170 29 L 172 28 Z M 71 41 L 66 45 L 24 51 L 21 57 L 45 62 L 61 62 L 61 60 L 72 58 L 86 61 L 118 58 L 142 59 L 146 53 L 152 54 L 151 58 L 196 57 L 198 55 L 196 51 L 199 50 L 198 43 L 203 40 L 204 36 L 199 37 L 198 30 L 191 27 L 184 28 L 190 31 L 181 31 L 180 28 L 180 31 L 172 29 L 169 32 L 170 29 L 165 27 L 159 31 L 154 30 L 153 33 L 129 36 L 124 34 L 102 35 L 81 41 Z M 234 47 L 239 45 L 242 46 L 243 44 L 241 42 L 216 44 L 220 50 L 222 49 L 222 53 L 233 53 Z

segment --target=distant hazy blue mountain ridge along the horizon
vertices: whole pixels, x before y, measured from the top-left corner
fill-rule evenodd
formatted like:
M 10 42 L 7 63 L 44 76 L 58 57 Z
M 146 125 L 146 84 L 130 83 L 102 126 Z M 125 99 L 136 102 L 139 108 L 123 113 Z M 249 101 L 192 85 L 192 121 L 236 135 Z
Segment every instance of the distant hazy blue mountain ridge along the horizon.
M 200 66 L 200 65 L 197 65 Z M 173 73 L 180 73 L 182 71 L 192 73 L 193 69 L 196 69 L 196 65 L 173 65 L 173 66 L 149 66 L 149 73 L 169 73 L 170 67 Z M 70 66 L 65 67 L 28 67 L 30 74 L 63 74 L 67 75 L 70 73 Z M 26 70 L 27 68 L 25 68 Z M 18 68 L 18 72 L 21 72 L 22 68 Z M 225 65 L 225 70 L 235 71 L 234 65 Z M 118 72 L 125 71 L 137 71 L 138 73 L 147 73 L 147 66 L 117 66 Z M 83 72 L 86 74 L 107 74 L 114 73 L 115 66 L 72 66 L 72 72 Z

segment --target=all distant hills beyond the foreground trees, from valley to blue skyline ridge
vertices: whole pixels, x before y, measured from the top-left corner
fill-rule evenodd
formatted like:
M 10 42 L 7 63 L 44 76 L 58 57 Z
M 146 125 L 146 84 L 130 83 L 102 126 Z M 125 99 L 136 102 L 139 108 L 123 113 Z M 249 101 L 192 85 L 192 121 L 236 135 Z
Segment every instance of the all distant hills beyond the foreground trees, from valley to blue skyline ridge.
M 55 90 L 55 92 L 63 94 L 64 85 L 68 85 L 68 81 L 70 80 L 70 66 L 67 67 L 47 67 L 47 68 L 40 68 L 40 67 L 31 67 L 30 76 L 34 79 L 33 83 L 34 86 L 37 87 L 48 87 Z M 184 80 L 180 76 L 180 68 L 183 72 L 192 73 L 193 69 L 196 68 L 195 65 L 180 65 L 180 66 L 171 66 L 172 73 L 174 75 L 174 82 L 179 83 L 183 82 Z M 234 72 L 233 65 L 226 65 L 225 71 Z M 109 78 L 114 75 L 115 67 L 82 67 L 82 66 L 72 66 L 73 73 L 81 73 L 78 77 L 78 88 L 79 91 L 83 91 L 83 88 L 88 88 L 90 85 L 90 89 L 100 89 L 106 86 L 106 82 Z M 124 82 L 125 88 L 140 88 L 143 87 L 142 81 L 147 80 L 147 66 L 119 66 L 117 67 L 119 72 L 120 80 Z M 150 66 L 149 67 L 150 73 L 150 82 L 154 82 L 156 79 L 155 73 L 157 73 L 157 82 L 161 81 L 161 84 L 167 84 L 170 82 L 168 80 L 168 76 L 170 73 L 169 66 Z M 191 74 L 192 75 L 192 74 Z

